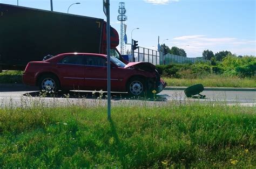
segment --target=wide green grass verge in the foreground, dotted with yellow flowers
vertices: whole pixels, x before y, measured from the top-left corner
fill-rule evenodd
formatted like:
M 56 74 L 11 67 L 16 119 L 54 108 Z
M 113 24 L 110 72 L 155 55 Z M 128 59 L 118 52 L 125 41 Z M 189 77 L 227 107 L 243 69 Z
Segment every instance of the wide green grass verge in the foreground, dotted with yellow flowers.
M 255 107 L 0 109 L 0 167 L 255 167 Z

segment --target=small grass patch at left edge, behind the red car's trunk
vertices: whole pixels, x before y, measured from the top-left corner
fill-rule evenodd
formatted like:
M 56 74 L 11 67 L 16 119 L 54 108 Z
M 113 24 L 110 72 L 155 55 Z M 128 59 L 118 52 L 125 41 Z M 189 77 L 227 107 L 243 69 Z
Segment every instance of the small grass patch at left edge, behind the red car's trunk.
M 22 71 L 6 71 L 0 73 L 0 83 L 22 83 Z

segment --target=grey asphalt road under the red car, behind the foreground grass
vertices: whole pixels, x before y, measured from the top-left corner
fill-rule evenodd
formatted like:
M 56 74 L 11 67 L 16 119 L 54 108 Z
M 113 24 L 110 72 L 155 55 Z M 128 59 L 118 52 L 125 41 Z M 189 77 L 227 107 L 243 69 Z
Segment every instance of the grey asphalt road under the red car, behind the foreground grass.
M 155 98 L 128 98 L 124 93 L 112 94 L 112 105 L 163 105 L 174 101 L 178 102 L 225 102 L 225 103 L 241 103 L 246 105 L 256 105 L 256 91 L 211 91 L 205 90 L 201 94 L 206 98 L 187 98 L 183 90 L 163 90 L 157 94 Z M 41 95 L 41 97 L 40 97 Z M 54 105 L 70 105 L 82 104 L 88 106 L 105 105 L 106 100 L 97 99 L 98 93 L 92 95 L 91 92 L 73 91 L 69 95 L 58 94 L 42 97 L 37 87 L 29 87 L 24 85 L 3 85 L 0 88 L 0 107 L 21 107 L 35 104 L 45 104 L 45 106 Z M 146 100 L 146 101 L 145 101 Z

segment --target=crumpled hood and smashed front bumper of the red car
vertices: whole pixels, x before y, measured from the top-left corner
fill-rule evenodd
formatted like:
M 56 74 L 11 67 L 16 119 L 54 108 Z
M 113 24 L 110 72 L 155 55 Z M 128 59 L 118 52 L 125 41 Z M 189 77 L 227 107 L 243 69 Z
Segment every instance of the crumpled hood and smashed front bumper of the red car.
M 149 62 L 130 62 L 126 65 L 125 68 L 132 68 L 136 69 L 138 71 L 143 71 L 150 73 L 150 77 L 146 77 L 146 87 L 147 90 L 152 92 L 153 90 L 156 90 L 156 94 L 160 93 L 167 85 L 166 82 L 164 82 L 163 79 L 160 78 L 160 75 L 156 69 L 156 66 Z M 153 74 L 153 75 L 152 75 Z M 154 92 L 153 92 L 154 93 Z

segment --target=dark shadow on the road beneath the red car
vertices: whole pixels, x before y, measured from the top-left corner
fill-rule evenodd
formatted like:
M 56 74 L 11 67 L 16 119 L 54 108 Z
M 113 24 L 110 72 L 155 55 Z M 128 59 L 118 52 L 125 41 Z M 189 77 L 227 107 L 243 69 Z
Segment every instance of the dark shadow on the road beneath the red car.
M 88 91 L 69 91 L 69 93 L 63 93 L 59 91 L 58 93 L 42 93 L 41 91 L 33 91 L 24 94 L 24 96 L 31 97 L 55 97 L 55 98 L 87 98 L 87 99 L 107 99 L 107 93 L 100 94 L 99 92 L 92 93 Z M 167 101 L 167 96 L 156 95 L 152 97 L 129 97 L 125 93 L 111 93 L 112 100 L 147 100 L 147 101 Z

